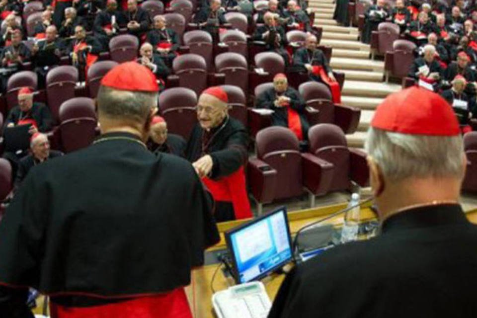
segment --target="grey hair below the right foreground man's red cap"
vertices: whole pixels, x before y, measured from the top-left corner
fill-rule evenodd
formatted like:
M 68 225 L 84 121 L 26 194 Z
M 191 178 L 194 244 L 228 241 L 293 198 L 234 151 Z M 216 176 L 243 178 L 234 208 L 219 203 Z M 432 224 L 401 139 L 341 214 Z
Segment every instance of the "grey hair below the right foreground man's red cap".
M 464 173 L 460 135 L 407 135 L 371 127 L 365 148 L 391 181 L 408 177 L 462 177 Z

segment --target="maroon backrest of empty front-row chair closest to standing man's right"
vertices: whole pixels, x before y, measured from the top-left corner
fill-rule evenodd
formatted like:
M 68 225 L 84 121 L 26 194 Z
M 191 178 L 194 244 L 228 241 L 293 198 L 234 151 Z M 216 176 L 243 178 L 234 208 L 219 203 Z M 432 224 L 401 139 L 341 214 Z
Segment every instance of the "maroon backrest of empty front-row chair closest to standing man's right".
M 275 199 L 303 193 L 302 157 L 297 136 L 285 127 L 268 127 L 256 136 L 257 157 L 277 170 Z

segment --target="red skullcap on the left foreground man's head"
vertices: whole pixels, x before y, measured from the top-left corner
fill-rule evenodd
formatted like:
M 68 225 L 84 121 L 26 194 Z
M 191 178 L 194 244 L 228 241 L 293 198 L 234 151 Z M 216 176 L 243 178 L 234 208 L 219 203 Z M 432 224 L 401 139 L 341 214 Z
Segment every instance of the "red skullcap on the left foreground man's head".
M 101 85 L 129 91 L 159 91 L 156 76 L 147 67 L 136 62 L 115 66 L 103 77 Z

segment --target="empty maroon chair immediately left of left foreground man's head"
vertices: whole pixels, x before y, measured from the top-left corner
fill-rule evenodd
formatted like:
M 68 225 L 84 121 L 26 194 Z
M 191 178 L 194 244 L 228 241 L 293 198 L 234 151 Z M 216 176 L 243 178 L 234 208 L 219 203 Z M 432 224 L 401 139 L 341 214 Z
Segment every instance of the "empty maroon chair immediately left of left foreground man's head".
M 71 153 L 89 146 L 96 136 L 94 101 L 75 97 L 60 106 L 60 138 L 63 152 Z

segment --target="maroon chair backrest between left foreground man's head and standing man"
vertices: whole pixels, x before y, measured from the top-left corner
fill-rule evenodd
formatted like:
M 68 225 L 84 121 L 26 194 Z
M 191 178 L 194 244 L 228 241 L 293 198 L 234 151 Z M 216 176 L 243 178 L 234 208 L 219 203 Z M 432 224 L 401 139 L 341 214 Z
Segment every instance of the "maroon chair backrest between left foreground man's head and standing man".
M 197 94 L 189 88 L 172 87 L 159 94 L 159 112 L 172 134 L 189 139 L 197 123 Z

